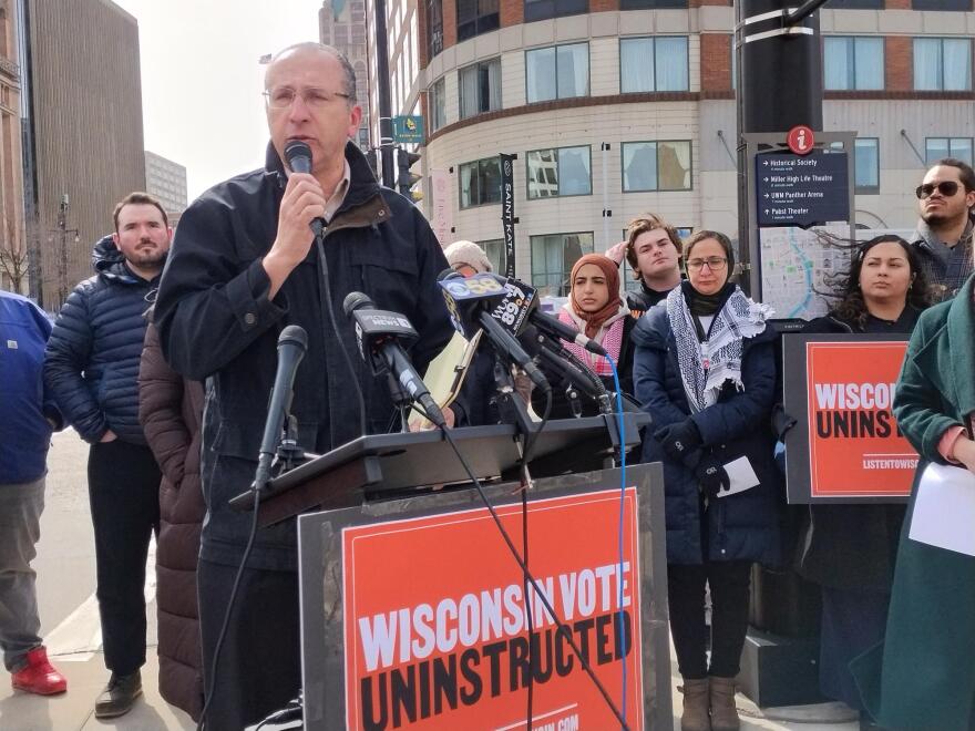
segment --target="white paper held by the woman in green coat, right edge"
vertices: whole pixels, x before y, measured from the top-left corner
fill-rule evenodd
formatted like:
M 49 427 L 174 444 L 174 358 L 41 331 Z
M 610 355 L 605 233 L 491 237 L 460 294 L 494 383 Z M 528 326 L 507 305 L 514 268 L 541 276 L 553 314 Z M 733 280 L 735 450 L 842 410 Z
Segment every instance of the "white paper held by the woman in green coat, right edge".
M 962 467 L 928 464 L 917 485 L 910 538 L 975 556 L 975 475 Z

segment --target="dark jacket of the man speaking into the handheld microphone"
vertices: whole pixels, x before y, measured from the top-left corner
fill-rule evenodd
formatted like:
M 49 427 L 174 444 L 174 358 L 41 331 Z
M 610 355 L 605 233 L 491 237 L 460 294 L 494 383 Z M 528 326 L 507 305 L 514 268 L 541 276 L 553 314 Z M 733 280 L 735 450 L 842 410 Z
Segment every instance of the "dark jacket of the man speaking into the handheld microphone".
M 429 224 L 407 198 L 380 188 L 355 145 L 347 145 L 346 159 L 350 186 L 324 240 L 338 338 L 319 300 L 324 291 L 315 245 L 275 298 L 268 298 L 261 258 L 274 244 L 287 182 L 273 151 L 264 169 L 211 188 L 179 219 L 155 325 L 171 366 L 187 378 L 206 380 L 202 476 L 208 513 L 201 553 L 206 560 L 236 566 L 243 556 L 250 517 L 227 501 L 254 477 L 281 329 L 298 325 L 308 334 L 291 411 L 299 443 L 316 453 L 360 434 L 342 347 L 361 384 L 368 431 L 398 429 L 387 381 L 373 378 L 359 357 L 342 311 L 349 292 L 366 292 L 379 309 L 410 320 L 420 334 L 411 356 L 421 373 L 451 337 L 437 286 L 447 260 Z M 248 566 L 294 570 L 295 521 L 261 529 Z

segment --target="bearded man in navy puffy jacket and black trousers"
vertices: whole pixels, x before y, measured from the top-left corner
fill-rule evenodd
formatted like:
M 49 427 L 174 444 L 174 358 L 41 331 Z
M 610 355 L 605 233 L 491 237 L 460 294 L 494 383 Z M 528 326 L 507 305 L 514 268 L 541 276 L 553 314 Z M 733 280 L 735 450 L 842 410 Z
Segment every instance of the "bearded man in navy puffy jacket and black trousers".
M 145 562 L 160 524 L 160 469 L 138 423 L 138 364 L 147 296 L 158 286 L 173 231 L 160 203 L 131 193 L 115 233 L 95 244 L 95 276 L 61 308 L 44 356 L 44 384 L 64 420 L 91 444 L 89 497 L 99 614 L 111 678 L 95 718 L 126 713 L 142 693 Z

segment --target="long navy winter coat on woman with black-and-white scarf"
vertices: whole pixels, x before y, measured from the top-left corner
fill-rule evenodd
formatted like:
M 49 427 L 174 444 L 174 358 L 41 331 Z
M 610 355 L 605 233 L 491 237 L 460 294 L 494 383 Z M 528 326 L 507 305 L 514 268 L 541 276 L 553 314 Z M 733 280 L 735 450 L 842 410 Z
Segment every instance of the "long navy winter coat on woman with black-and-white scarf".
M 747 456 L 760 482 L 746 492 L 709 501 L 705 515 L 694 472 L 667 457 L 653 436 L 660 426 L 681 422 L 690 415 L 667 308 L 650 308 L 639 319 L 633 337 L 636 398 L 654 419 L 644 435 L 643 462 L 664 464 L 667 562 L 778 564 L 781 560 L 778 507 L 781 478 L 772 459 L 773 443 L 768 426 L 776 400 L 777 334 L 767 327 L 755 338 L 746 339 L 741 357 L 745 390 L 737 391 L 727 382 L 717 403 L 692 416 L 707 452 L 722 464 Z

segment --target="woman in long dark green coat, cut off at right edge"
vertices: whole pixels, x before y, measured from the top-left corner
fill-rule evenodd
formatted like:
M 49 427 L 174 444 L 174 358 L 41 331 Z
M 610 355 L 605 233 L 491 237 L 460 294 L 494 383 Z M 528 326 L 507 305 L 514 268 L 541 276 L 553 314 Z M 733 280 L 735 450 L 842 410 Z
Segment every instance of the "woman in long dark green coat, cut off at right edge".
M 894 415 L 928 462 L 975 472 L 975 442 L 963 426 L 975 412 L 973 278 L 925 311 L 914 329 Z M 899 730 L 975 729 L 975 557 L 907 538 L 918 477 L 904 522 L 886 637 L 851 663 L 864 704 Z

